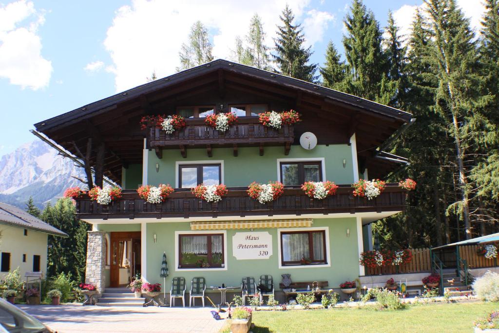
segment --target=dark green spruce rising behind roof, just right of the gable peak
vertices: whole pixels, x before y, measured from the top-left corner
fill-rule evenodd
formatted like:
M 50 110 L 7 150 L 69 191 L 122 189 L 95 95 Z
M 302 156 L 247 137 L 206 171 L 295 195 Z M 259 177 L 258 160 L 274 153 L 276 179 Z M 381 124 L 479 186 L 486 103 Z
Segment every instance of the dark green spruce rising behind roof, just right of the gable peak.
M 315 82 L 317 64 L 308 64 L 312 51 L 311 46 L 303 46 L 305 37 L 301 24 L 293 25 L 294 15 L 288 5 L 279 18 L 282 25 L 277 26 L 277 38 L 274 39 L 276 54 L 272 54 L 279 72 L 300 80 Z

